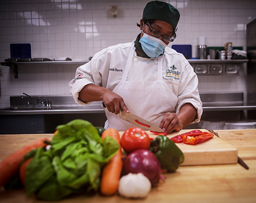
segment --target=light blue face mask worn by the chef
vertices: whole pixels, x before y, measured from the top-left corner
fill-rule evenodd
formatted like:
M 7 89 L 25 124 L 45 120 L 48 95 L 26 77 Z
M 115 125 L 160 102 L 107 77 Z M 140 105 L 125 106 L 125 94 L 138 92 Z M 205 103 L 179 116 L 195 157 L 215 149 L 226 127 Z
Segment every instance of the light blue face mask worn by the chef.
M 161 39 L 145 33 L 143 33 L 143 36 L 140 38 L 139 42 L 141 43 L 142 50 L 150 58 L 156 58 L 160 54 L 163 54 L 164 48 L 167 46 Z

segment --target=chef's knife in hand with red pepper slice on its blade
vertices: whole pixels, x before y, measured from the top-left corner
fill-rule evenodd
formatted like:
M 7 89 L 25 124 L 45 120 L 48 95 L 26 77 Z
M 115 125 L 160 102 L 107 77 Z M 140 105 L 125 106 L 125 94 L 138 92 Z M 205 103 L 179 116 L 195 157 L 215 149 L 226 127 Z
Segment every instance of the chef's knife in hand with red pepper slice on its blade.
M 102 102 L 102 105 L 104 108 L 106 107 L 103 102 Z M 153 123 L 151 123 L 145 119 L 135 116 L 131 112 L 126 113 L 122 108 L 120 108 L 119 117 L 121 119 L 123 119 L 124 121 L 132 123 L 136 126 L 139 126 L 140 128 L 142 128 L 144 130 L 151 130 L 154 132 L 164 132 L 160 127 L 157 127 L 156 125 L 154 125 Z

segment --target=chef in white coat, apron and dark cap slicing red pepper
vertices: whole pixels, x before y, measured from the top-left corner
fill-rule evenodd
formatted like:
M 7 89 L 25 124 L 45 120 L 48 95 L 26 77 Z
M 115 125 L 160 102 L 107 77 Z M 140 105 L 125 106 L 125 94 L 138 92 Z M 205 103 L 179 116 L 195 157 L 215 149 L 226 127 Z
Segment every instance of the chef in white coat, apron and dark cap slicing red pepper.
M 167 133 L 200 121 L 197 75 L 182 54 L 167 47 L 176 37 L 179 18 L 172 5 L 149 2 L 133 42 L 103 49 L 78 67 L 70 92 L 79 104 L 103 101 L 108 118 L 104 128 L 124 131 L 133 126 L 119 118 L 120 108 Z

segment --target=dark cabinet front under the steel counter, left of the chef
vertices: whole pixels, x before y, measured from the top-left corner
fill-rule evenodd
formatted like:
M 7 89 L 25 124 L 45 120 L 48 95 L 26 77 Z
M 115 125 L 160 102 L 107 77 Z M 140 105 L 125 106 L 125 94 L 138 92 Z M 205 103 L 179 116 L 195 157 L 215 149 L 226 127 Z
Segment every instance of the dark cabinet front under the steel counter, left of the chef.
M 58 125 L 66 124 L 75 119 L 91 122 L 94 126 L 104 127 L 106 116 L 104 110 L 99 113 L 75 114 L 23 114 L 23 115 L 1 115 L 0 134 L 38 134 L 53 133 Z

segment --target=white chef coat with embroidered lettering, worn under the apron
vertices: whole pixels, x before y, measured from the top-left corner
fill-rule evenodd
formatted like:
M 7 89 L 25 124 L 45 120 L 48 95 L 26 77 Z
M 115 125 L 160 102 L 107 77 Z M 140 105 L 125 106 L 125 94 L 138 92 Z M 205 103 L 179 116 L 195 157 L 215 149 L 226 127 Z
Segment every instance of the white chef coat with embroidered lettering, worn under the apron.
M 103 86 L 113 91 L 113 89 L 122 79 L 127 58 L 129 57 L 129 53 L 133 47 L 134 41 L 131 43 L 111 46 L 95 54 L 90 62 L 78 67 L 76 77 L 69 83 L 70 92 L 75 101 L 79 104 L 91 103 L 84 103 L 78 99 L 79 92 L 87 84 Z M 134 52 L 134 54 L 136 55 L 136 52 Z M 133 58 L 133 60 L 135 59 Z M 177 104 L 174 105 L 173 110 L 168 109 L 169 112 L 176 112 L 176 114 L 178 114 L 184 104 L 190 103 L 197 109 L 197 118 L 195 118 L 192 123 L 200 121 L 203 110 L 197 88 L 198 78 L 193 67 L 188 63 L 182 54 L 166 47 L 164 54 L 156 59 L 136 57 L 136 60 L 144 60 L 144 62 L 141 62 L 140 64 L 145 66 L 147 66 L 147 60 L 150 62 L 153 60 L 155 63 L 157 63 L 158 60 L 161 60 L 162 80 L 168 85 L 170 91 L 172 91 L 172 94 L 178 98 Z M 131 67 L 127 80 L 136 81 L 137 75 L 136 69 Z M 146 73 L 144 73 L 143 78 L 145 81 L 152 80 L 152 78 L 154 78 L 152 75 L 154 75 L 157 79 L 156 70 L 148 70 Z M 136 103 L 139 103 L 136 98 L 134 98 L 134 100 Z M 129 104 L 126 105 L 129 108 Z M 158 104 L 155 105 L 157 106 Z M 132 113 L 136 114 L 136 112 Z M 143 115 L 137 116 L 143 118 Z M 150 120 L 149 118 L 144 119 Z M 158 126 L 159 124 L 160 123 L 156 125 Z

